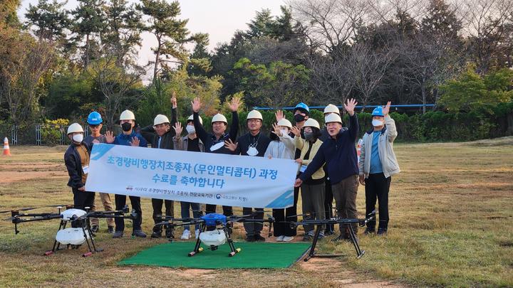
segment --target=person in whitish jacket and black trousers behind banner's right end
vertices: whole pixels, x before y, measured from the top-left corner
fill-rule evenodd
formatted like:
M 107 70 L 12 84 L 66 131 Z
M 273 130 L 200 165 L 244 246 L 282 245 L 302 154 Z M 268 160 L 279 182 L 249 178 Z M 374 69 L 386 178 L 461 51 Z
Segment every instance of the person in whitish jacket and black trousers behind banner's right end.
M 278 114 L 278 112 L 276 112 Z M 273 124 L 273 130 L 269 138 L 271 143 L 267 147 L 264 157 L 281 158 L 281 159 L 294 159 L 294 152 L 296 146 L 294 146 L 293 139 L 289 136 L 290 129 L 292 129 L 292 123 L 281 118 L 276 124 Z M 297 214 L 297 196 L 294 197 L 295 205 L 286 209 L 273 209 L 274 221 L 274 236 L 278 242 L 289 242 L 294 240 L 296 235 L 296 229 L 291 228 L 289 221 L 292 221 L 289 217 Z

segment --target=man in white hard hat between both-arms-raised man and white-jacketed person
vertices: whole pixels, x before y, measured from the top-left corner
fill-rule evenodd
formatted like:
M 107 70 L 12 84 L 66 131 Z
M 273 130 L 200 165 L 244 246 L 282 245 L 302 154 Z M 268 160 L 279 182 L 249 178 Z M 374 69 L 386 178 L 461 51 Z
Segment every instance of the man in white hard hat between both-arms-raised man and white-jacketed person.
M 269 137 L 261 133 L 263 120 L 260 112 L 257 110 L 250 111 L 246 117 L 249 132 L 239 137 L 235 146 L 233 146 L 233 143 L 229 143 L 227 146 L 232 146 L 232 149 L 235 148 L 235 154 L 237 155 L 263 157 L 267 146 L 271 142 Z M 254 210 L 256 210 L 256 213 L 253 213 L 253 208 L 243 207 L 242 213 L 244 215 L 254 214 L 249 219 L 264 219 L 263 208 L 255 208 Z M 260 235 L 262 228 L 264 228 L 262 223 L 244 223 L 246 240 L 248 242 L 265 241 L 265 238 Z

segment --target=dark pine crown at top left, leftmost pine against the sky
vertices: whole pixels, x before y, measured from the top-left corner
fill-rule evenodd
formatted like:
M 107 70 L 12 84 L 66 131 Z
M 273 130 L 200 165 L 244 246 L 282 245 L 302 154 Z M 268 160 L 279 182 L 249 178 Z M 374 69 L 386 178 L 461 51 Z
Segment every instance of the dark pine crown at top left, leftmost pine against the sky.
M 64 9 L 66 3 L 67 1 L 59 3 L 57 0 L 39 0 L 36 6 L 28 4 L 25 14 L 26 26 L 33 28 L 34 34 L 40 40 L 45 39 L 63 45 L 70 24 L 68 13 Z

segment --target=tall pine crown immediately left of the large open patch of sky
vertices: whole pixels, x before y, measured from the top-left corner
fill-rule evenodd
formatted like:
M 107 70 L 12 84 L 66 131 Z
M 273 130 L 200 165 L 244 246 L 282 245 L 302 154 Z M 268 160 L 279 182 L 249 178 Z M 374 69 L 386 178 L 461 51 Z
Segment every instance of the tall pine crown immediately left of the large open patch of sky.
M 145 31 L 157 38 L 157 47 L 153 49 L 153 80 L 162 69 L 170 70 L 172 64 L 182 65 L 188 57 L 184 44 L 192 41 L 187 38 L 189 31 L 185 27 L 188 19 L 180 20 L 180 4 L 178 1 L 167 3 L 165 0 L 141 0 L 138 9 L 148 17 L 149 23 Z

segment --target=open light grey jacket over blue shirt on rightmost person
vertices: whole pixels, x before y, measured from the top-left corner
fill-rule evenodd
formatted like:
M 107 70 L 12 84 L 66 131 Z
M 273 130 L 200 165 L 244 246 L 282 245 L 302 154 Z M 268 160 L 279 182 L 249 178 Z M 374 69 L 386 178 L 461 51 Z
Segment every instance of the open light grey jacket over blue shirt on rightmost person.
M 385 127 L 381 130 L 378 141 L 378 152 L 380 156 L 381 165 L 383 166 L 383 174 L 388 178 L 400 172 L 399 164 L 395 158 L 393 151 L 393 142 L 397 137 L 397 129 L 395 128 L 395 121 L 389 115 L 385 116 Z M 363 134 L 363 142 L 361 144 L 360 161 L 358 161 L 358 169 L 360 175 L 368 177 L 371 170 L 371 154 L 373 142 L 373 130 Z M 369 155 L 366 157 L 366 155 Z

